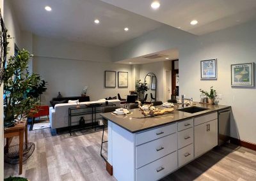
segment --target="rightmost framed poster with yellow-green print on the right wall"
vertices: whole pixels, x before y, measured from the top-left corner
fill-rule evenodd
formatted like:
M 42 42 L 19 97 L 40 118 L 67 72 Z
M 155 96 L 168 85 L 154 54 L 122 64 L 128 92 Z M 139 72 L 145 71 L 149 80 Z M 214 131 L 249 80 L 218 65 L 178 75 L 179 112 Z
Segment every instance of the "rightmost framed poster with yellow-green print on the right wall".
M 253 87 L 253 66 L 253 62 L 231 65 L 231 86 Z

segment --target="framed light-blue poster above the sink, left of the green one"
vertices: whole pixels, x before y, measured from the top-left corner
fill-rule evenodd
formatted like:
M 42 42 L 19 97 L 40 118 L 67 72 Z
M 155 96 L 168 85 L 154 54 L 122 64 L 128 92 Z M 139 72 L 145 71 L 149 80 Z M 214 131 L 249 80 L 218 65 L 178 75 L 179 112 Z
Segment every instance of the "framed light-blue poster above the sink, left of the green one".
M 201 80 L 217 80 L 217 59 L 201 61 Z

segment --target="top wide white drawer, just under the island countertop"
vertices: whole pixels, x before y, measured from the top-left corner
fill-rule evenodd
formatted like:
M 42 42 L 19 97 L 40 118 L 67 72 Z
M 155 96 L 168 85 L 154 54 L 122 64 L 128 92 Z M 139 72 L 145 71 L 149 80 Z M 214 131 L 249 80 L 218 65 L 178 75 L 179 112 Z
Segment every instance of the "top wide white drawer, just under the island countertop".
M 138 133 L 135 136 L 136 145 L 141 145 L 147 143 L 148 141 L 156 140 L 168 134 L 177 132 L 177 123 L 170 124 L 167 126 L 157 127 L 156 129 L 151 129 L 142 133 Z

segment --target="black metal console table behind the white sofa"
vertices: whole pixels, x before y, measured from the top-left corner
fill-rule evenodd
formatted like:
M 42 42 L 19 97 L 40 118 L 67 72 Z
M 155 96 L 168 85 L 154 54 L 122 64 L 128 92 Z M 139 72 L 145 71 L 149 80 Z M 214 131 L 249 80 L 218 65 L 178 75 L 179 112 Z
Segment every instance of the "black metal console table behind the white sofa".
M 77 116 L 77 115 L 88 115 L 91 114 L 92 115 L 92 127 L 90 126 L 86 126 L 86 127 L 78 127 L 77 129 L 81 129 L 81 128 L 94 128 L 94 131 L 96 131 L 96 127 L 95 123 L 96 123 L 96 113 L 102 113 L 103 107 L 105 106 L 116 106 L 115 104 L 108 104 L 108 105 L 103 105 L 103 104 L 90 104 L 90 105 L 86 105 L 86 106 L 79 106 L 79 107 L 72 107 L 72 108 L 68 108 L 68 133 L 70 133 L 71 136 L 71 132 L 72 132 L 72 117 Z M 102 108 L 100 110 L 97 110 L 97 108 Z

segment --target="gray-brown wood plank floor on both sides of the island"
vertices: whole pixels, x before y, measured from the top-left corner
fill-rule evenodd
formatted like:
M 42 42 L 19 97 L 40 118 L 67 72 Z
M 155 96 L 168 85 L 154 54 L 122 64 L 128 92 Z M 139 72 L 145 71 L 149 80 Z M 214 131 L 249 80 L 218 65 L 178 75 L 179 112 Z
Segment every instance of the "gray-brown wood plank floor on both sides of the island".
M 51 136 L 50 129 L 29 131 L 29 141 L 36 148 L 24 162 L 22 176 L 31 181 L 115 180 L 108 175 L 99 154 L 102 131 L 75 135 Z M 4 163 L 4 177 L 18 174 L 18 165 Z M 256 152 L 227 144 L 162 179 L 166 180 L 256 180 Z

